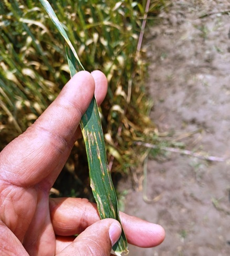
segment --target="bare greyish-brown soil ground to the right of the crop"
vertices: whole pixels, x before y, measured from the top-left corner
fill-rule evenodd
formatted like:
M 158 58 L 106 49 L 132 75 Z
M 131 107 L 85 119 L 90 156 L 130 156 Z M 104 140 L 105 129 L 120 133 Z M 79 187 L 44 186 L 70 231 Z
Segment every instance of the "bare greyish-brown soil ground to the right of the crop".
M 130 245 L 132 256 L 230 255 L 229 16 L 229 0 L 171 1 L 145 33 L 151 118 L 162 140 L 184 144 L 190 155 L 150 159 L 144 196 L 120 183 L 124 211 L 166 232 L 158 247 Z

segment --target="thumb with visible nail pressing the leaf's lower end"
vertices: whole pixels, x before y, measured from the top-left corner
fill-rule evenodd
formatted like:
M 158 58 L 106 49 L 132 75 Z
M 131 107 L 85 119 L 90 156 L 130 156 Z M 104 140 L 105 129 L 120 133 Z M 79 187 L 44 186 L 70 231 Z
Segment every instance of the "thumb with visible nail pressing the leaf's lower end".
M 68 247 L 57 255 L 110 255 L 121 235 L 121 225 L 114 219 L 104 219 L 90 225 Z

